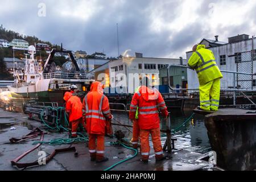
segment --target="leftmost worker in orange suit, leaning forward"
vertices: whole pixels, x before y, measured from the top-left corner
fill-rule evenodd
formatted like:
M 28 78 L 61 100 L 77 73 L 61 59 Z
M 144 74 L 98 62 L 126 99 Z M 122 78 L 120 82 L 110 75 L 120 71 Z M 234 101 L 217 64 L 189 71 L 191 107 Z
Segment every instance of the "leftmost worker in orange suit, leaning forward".
M 79 97 L 72 96 L 70 92 L 66 92 L 63 99 L 66 101 L 66 112 L 69 114 L 69 126 L 72 127 L 71 135 L 72 138 L 76 138 L 79 124 L 86 129 L 82 121 L 82 102 Z

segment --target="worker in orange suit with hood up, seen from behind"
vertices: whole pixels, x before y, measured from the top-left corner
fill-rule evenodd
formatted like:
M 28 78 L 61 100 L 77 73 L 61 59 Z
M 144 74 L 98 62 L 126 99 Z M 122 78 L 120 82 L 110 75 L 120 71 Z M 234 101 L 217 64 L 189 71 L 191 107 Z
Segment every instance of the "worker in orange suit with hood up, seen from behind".
M 90 159 L 97 163 L 108 160 L 104 156 L 105 152 L 105 128 L 111 127 L 113 115 L 110 113 L 109 100 L 103 94 L 102 84 L 98 81 L 92 83 L 90 92 L 82 102 L 83 120 L 86 121 L 87 132 L 89 134 Z M 97 139 L 97 146 L 96 146 Z

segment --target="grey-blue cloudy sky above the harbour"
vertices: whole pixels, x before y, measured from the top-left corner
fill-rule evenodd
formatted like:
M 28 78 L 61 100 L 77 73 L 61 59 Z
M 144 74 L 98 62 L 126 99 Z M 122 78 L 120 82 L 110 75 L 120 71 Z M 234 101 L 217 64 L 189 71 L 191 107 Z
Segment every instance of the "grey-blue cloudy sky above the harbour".
M 73 51 L 117 56 L 118 23 L 121 53 L 175 58 L 203 38 L 255 35 L 255 10 L 254 0 L 1 0 L 0 24 Z

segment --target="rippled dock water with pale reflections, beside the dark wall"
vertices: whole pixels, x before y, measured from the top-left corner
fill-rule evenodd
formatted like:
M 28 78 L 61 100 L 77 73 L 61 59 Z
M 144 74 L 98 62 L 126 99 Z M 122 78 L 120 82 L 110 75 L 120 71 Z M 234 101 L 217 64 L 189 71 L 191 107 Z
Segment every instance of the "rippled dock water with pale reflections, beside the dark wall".
M 171 129 L 176 129 L 180 126 L 185 119 L 189 118 L 191 113 L 181 113 L 180 111 L 173 110 L 171 112 Z M 112 113 L 114 118 L 124 125 L 133 125 L 133 123 L 129 122 L 127 113 Z M 191 121 L 185 123 L 179 130 L 177 130 L 174 134 L 172 134 L 172 138 L 176 138 L 175 148 L 176 149 L 185 149 L 188 151 L 206 153 L 211 151 L 207 129 L 204 125 L 204 118 L 201 115 L 195 115 L 193 117 L 195 124 L 192 125 Z M 115 123 L 115 121 L 113 121 Z M 126 138 L 132 138 L 132 134 L 127 131 L 122 126 L 113 126 L 114 131 L 122 130 L 125 133 Z M 165 130 L 165 122 L 161 119 L 161 129 Z M 132 129 L 130 129 L 132 130 Z M 162 137 L 162 144 L 166 141 L 166 137 Z M 151 143 L 152 145 L 152 143 Z

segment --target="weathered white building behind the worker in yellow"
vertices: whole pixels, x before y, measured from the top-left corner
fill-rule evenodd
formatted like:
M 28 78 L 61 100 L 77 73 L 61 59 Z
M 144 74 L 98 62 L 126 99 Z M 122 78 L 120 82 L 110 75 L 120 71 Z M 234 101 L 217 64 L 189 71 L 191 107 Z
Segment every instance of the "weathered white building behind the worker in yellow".
M 214 43 L 215 42 L 215 43 Z M 218 67 L 223 71 L 234 71 L 243 73 L 256 72 L 256 39 L 249 38 L 249 35 L 238 35 L 228 38 L 228 43 L 203 39 L 200 44 L 204 44 L 212 50 Z M 187 60 L 192 55 L 192 51 L 187 52 Z M 256 89 L 256 76 L 235 75 L 233 73 L 222 73 L 222 89 Z M 188 88 L 199 88 L 199 81 L 195 71 L 188 69 Z

